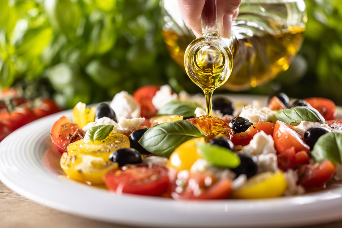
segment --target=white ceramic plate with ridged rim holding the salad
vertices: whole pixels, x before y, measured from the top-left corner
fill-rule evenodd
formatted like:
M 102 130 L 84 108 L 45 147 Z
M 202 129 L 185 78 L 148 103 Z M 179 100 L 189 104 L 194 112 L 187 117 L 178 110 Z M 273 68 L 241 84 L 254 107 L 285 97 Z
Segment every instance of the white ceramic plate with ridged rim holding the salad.
M 255 98 L 264 103 L 266 100 L 256 96 L 231 97 L 247 102 Z M 338 112 L 342 113 L 341 108 Z M 77 183 L 60 176 L 53 152 L 44 154 L 51 146 L 51 126 L 62 115 L 71 117 L 71 110 L 25 125 L 1 142 L 2 183 L 31 200 L 64 212 L 133 226 L 289 227 L 342 219 L 342 185 L 296 197 L 195 202 L 118 196 Z

